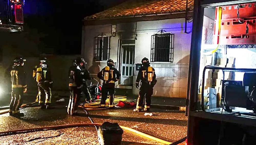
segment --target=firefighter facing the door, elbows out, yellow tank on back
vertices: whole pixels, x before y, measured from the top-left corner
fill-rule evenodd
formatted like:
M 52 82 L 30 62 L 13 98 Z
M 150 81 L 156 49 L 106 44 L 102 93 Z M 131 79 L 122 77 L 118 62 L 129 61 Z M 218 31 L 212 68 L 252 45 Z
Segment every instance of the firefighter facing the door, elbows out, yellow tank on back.
M 99 79 L 103 80 L 101 89 L 101 101 L 100 106 L 106 107 L 105 102 L 109 93 L 109 105 L 108 107 L 114 107 L 114 93 L 115 93 L 115 82 L 120 79 L 120 72 L 114 68 L 114 61 L 108 60 L 107 66 L 98 73 Z

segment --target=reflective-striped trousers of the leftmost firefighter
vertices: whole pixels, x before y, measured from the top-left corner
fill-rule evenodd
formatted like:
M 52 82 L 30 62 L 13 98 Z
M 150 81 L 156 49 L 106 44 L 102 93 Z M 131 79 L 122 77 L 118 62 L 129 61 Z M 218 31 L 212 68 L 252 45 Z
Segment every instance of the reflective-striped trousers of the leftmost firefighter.
M 12 99 L 10 103 L 10 112 L 17 113 L 19 112 L 19 108 L 23 103 L 23 87 L 12 88 Z

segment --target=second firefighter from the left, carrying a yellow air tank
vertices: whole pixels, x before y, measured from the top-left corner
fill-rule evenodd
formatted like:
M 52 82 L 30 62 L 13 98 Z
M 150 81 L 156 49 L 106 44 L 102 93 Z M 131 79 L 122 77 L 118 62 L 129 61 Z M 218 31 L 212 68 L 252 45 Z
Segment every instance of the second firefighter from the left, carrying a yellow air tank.
M 52 80 L 48 67 L 47 58 L 40 59 L 40 67 L 36 70 L 36 81 L 38 83 L 39 99 L 41 109 L 49 109 L 51 104 Z M 44 95 L 45 97 L 44 97 Z

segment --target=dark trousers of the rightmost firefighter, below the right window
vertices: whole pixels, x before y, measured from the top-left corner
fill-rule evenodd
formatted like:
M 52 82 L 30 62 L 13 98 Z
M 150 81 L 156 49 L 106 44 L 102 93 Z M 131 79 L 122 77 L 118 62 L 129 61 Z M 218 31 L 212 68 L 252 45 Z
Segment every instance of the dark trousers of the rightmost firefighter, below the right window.
M 143 99 L 146 95 L 146 102 L 144 108 L 150 108 L 151 105 L 151 96 L 153 94 L 153 87 L 149 84 L 143 84 L 140 87 L 139 96 L 137 99 L 137 105 L 136 108 L 141 109 L 143 105 Z

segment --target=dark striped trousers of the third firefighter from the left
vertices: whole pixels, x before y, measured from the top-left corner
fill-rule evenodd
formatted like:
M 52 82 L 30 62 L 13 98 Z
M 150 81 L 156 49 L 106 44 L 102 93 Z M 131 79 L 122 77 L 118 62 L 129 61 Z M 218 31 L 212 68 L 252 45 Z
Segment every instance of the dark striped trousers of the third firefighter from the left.
M 70 96 L 69 96 L 67 112 L 69 115 L 72 115 L 74 113 L 77 113 L 81 91 L 80 91 L 80 88 L 77 88 L 75 86 L 69 87 L 69 91 L 70 91 Z

